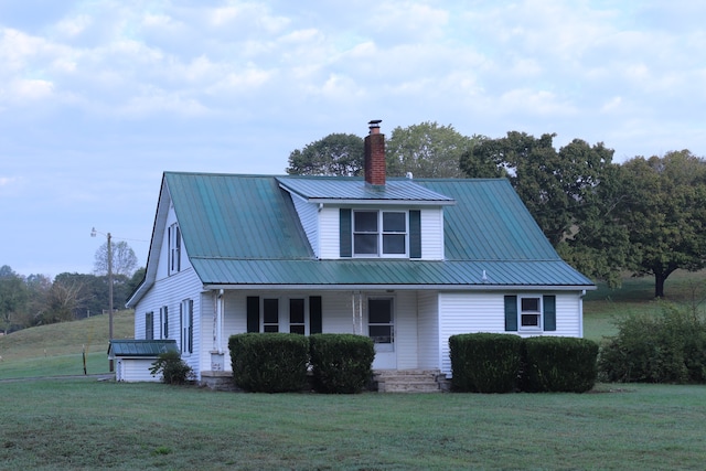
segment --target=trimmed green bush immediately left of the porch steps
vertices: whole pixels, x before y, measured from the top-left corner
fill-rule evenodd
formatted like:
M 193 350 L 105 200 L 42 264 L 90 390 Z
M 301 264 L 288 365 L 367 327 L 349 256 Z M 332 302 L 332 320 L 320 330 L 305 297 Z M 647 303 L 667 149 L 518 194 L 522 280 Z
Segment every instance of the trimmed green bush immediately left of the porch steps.
M 375 358 L 371 338 L 320 333 L 309 338 L 309 349 L 317 392 L 360 393 L 370 382 Z

